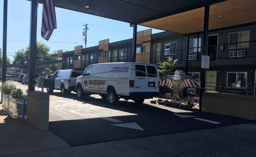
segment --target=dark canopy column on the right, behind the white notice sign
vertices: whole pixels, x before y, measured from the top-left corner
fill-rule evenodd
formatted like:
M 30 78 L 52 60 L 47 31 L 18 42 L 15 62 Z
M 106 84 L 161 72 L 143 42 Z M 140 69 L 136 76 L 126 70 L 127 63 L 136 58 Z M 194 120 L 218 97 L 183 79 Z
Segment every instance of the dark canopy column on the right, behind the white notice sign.
M 208 55 L 208 27 L 209 27 L 209 5 L 204 7 L 204 34 L 203 34 L 203 44 L 202 44 L 202 55 Z M 202 60 L 201 60 L 202 61 Z M 205 69 L 201 68 L 201 88 L 200 89 L 200 99 L 199 99 L 199 110 L 202 109 L 202 93 L 205 88 Z

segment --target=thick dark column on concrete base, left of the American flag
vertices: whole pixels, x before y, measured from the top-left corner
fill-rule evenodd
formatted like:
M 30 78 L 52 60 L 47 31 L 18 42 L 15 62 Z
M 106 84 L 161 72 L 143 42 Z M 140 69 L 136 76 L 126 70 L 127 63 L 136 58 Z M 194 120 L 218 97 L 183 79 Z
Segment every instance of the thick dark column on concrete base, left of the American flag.
M 28 66 L 28 90 L 35 90 L 35 73 L 36 71 L 36 5 L 37 0 L 31 0 L 30 3 L 30 38 L 29 38 L 29 66 Z M 35 17 L 35 19 L 34 19 Z

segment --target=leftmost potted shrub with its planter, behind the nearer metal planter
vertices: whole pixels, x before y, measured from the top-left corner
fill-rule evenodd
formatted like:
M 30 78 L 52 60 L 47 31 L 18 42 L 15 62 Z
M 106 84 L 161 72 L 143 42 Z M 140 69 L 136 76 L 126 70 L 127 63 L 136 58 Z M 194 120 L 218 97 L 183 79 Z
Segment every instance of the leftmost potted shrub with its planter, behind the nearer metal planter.
M 11 82 L 5 81 L 0 85 L 0 90 L 3 94 L 2 109 L 4 111 L 9 111 L 9 96 L 10 92 L 14 89 L 16 89 L 16 85 L 12 84 Z

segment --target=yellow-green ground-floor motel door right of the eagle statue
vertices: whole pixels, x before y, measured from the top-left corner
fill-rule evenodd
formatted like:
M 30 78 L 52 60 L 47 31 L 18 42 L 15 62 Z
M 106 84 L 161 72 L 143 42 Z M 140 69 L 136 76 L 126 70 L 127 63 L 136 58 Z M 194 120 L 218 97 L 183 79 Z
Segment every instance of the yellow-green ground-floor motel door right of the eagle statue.
M 217 80 L 217 71 L 206 71 L 205 92 L 215 92 L 216 91 L 216 80 Z

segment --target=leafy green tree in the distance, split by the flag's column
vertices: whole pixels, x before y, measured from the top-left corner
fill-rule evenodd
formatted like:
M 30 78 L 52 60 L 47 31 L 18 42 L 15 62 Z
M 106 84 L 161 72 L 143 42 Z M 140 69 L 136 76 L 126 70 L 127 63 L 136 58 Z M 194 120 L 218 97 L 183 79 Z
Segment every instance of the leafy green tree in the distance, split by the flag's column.
M 55 60 L 51 56 L 50 47 L 40 41 L 36 41 L 36 61 Z M 25 49 L 15 52 L 14 64 L 27 64 L 29 61 L 29 45 Z

